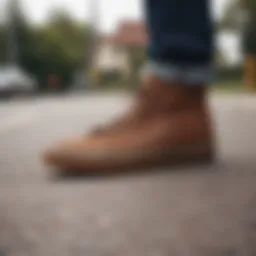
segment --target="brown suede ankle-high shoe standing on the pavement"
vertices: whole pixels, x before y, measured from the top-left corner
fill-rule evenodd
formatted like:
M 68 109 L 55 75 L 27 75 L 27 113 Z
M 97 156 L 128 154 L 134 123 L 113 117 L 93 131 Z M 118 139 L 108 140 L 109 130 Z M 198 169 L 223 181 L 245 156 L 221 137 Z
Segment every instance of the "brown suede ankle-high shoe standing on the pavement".
M 205 94 L 202 85 L 150 77 L 123 118 L 55 145 L 44 160 L 70 175 L 210 161 L 213 140 Z

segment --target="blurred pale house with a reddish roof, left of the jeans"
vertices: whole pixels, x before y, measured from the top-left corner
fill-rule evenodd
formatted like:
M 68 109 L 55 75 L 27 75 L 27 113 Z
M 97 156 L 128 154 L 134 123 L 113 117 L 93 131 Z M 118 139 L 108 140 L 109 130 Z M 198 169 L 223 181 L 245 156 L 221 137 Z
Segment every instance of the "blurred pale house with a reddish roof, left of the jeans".
M 128 48 L 145 48 L 148 42 L 142 21 L 122 21 L 114 33 L 104 36 L 98 44 L 94 69 L 99 72 L 130 73 Z

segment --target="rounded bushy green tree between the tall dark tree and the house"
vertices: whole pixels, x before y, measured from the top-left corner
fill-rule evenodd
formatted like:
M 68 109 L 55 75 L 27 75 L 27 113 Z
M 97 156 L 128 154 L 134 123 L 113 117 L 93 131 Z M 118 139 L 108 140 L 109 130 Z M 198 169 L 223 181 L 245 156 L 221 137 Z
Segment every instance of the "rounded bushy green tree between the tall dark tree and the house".
M 27 57 L 30 69 L 45 84 L 49 74 L 58 75 L 66 88 L 74 72 L 85 66 L 90 30 L 63 11 L 55 11 L 47 23 L 33 29 Z M 29 46 L 29 47 L 28 47 Z M 25 63 L 24 63 L 25 64 Z M 35 70 L 37 69 L 37 70 Z

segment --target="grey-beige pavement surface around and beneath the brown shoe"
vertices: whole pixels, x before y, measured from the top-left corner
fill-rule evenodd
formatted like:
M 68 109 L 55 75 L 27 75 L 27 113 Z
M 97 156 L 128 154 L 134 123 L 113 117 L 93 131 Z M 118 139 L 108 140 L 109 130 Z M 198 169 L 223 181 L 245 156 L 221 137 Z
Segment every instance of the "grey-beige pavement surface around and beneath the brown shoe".
M 54 140 L 118 115 L 123 94 L 0 102 L 0 256 L 256 255 L 256 96 L 210 96 L 218 159 L 150 174 L 55 180 Z

